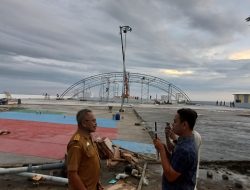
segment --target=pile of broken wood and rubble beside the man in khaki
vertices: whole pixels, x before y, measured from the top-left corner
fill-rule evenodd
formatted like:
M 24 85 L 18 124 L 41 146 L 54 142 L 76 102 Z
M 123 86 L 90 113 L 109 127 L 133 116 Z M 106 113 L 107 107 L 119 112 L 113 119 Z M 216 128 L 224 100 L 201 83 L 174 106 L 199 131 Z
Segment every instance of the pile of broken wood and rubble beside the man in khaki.
M 142 185 L 148 185 L 149 181 L 145 175 L 148 163 L 156 163 L 155 158 L 135 153 L 119 146 L 113 145 L 108 138 L 96 139 L 99 156 L 102 160 L 106 160 L 106 165 L 109 168 L 119 167 L 119 163 L 127 163 L 122 173 L 109 181 L 111 184 L 107 190 L 115 189 L 137 189 L 140 190 Z M 124 183 L 124 179 L 132 176 L 138 179 L 137 187 Z

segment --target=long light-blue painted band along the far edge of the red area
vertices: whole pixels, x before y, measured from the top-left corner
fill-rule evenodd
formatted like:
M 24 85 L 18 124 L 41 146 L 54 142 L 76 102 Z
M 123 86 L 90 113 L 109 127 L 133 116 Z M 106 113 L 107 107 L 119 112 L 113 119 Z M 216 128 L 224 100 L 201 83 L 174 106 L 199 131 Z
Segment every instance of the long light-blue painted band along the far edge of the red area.
M 77 125 L 75 116 L 46 113 L 25 113 L 25 112 L 0 112 L 1 119 L 15 119 L 22 121 L 36 121 L 47 123 L 60 123 Z M 97 125 L 104 128 L 116 128 L 116 121 L 105 118 L 97 118 Z

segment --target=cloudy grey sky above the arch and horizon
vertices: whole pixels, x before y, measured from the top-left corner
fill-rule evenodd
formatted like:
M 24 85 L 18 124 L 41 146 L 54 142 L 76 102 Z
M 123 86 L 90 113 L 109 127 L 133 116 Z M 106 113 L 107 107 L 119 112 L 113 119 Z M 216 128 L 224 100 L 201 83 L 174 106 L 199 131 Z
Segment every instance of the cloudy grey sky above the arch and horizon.
M 250 93 L 249 0 L 1 0 L 0 93 L 61 94 L 126 69 L 159 77 L 191 100 Z M 132 93 L 135 92 L 131 92 Z

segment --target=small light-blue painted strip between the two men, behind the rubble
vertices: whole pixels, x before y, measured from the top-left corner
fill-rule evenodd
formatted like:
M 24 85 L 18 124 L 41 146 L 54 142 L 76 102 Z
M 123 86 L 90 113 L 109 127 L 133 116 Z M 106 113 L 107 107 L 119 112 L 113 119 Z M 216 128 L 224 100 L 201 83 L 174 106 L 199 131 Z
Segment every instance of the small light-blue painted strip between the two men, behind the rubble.
M 133 152 L 156 154 L 156 150 L 153 144 L 144 144 L 123 140 L 112 140 L 112 142 L 115 145 L 119 145 L 120 147 Z

